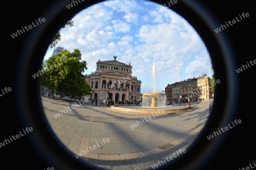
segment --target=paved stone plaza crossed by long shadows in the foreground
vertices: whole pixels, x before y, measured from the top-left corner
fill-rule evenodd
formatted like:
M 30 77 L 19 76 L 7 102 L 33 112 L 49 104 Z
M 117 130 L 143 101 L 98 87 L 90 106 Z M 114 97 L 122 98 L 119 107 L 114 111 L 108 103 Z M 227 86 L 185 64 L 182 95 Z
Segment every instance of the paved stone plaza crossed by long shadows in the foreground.
M 188 148 L 209 116 L 209 102 L 150 120 L 89 101 L 42 97 L 42 103 L 51 128 L 74 157 L 104 169 L 154 169 L 166 156 Z

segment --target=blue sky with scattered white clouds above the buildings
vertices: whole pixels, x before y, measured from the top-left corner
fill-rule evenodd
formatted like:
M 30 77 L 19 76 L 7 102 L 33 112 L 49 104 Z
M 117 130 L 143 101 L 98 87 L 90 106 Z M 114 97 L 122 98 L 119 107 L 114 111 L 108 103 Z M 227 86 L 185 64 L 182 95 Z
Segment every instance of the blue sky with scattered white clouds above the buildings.
M 187 20 L 166 6 L 144 0 L 97 3 L 76 14 L 73 27 L 60 29 L 56 47 L 79 49 L 88 64 L 84 74 L 96 71 L 98 59 L 117 56 L 119 62 L 130 62 L 132 75 L 142 81 L 142 94 L 153 92 L 153 82 L 154 92 L 162 92 L 181 80 L 202 74 L 211 78 L 211 58 L 203 40 Z M 53 50 L 49 46 L 44 59 Z

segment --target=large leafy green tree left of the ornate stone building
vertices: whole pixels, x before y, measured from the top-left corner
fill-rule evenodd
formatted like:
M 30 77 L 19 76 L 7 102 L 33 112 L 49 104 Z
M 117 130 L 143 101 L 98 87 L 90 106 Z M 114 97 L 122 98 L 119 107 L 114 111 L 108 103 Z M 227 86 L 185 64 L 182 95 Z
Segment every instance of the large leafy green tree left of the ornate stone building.
M 86 83 L 84 71 L 87 70 L 86 61 L 81 60 L 81 52 L 64 50 L 49 57 L 42 65 L 40 83 L 60 93 L 61 101 L 63 92 L 74 96 L 88 95 L 92 91 Z

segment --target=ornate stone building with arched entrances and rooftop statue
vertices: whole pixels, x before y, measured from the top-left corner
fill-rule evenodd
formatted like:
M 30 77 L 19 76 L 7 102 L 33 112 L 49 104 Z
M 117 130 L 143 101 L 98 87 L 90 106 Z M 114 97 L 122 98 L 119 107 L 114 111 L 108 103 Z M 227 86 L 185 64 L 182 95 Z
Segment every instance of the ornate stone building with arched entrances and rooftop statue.
M 141 100 L 141 80 L 132 76 L 131 64 L 128 65 L 113 60 L 100 61 L 96 63 L 96 71 L 86 75 L 86 82 L 90 84 L 93 92 L 91 99 L 113 101 L 135 101 Z

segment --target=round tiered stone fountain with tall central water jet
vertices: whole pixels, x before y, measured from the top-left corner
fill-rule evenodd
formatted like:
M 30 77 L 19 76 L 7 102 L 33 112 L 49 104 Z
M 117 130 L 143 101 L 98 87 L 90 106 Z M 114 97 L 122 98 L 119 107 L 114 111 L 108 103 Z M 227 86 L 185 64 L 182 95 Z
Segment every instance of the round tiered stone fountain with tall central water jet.
M 133 114 L 152 114 L 156 112 L 157 109 L 160 109 L 164 114 L 171 113 L 182 113 L 188 110 L 191 110 L 188 106 L 170 106 L 167 105 L 166 94 L 157 92 L 156 90 L 156 65 L 155 61 L 152 67 L 152 92 L 145 93 L 142 95 L 142 104 L 141 106 L 113 106 L 109 109 L 113 111 L 122 111 L 126 113 Z M 164 111 L 164 112 L 163 112 Z

